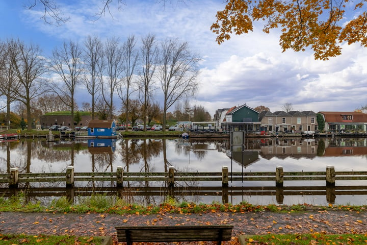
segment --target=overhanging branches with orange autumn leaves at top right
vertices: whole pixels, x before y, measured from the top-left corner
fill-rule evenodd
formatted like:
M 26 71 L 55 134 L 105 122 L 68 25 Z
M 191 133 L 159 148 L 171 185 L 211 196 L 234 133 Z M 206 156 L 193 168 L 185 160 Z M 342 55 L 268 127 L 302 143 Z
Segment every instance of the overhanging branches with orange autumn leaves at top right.
M 360 42 L 367 46 L 367 11 L 365 2 L 348 0 L 226 0 L 211 30 L 217 42 L 231 34 L 253 31 L 253 22 L 264 21 L 263 31 L 278 28 L 283 52 L 305 51 L 310 47 L 314 58 L 328 60 L 342 54 L 341 44 Z M 352 12 L 351 17 L 348 13 Z

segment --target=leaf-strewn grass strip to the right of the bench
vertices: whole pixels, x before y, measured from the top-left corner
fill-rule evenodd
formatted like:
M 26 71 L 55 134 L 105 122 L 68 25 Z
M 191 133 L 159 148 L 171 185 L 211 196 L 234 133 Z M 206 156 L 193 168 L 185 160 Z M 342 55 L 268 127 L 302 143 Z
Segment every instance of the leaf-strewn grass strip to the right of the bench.
M 245 244 L 308 245 L 308 244 L 366 244 L 367 234 L 267 234 L 249 236 Z

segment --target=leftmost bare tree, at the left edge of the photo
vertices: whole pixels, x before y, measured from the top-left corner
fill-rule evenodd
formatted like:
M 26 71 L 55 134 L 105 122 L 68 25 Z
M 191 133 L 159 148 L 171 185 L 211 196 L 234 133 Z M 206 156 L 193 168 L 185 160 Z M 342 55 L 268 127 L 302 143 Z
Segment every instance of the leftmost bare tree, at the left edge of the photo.
M 10 105 L 17 100 L 15 91 L 20 86 L 11 57 L 11 50 L 16 48 L 17 45 L 17 41 L 14 39 L 0 43 L 0 57 L 2 57 L 0 59 L 0 94 L 6 97 L 7 123 L 10 122 Z

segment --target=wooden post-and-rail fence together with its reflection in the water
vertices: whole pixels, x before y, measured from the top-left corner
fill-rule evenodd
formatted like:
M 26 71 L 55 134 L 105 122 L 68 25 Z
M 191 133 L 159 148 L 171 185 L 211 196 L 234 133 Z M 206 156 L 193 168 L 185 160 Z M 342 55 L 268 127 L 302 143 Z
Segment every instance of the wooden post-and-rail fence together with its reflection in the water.
M 284 181 L 325 181 L 324 186 L 286 186 Z M 326 195 L 327 201 L 333 203 L 335 195 L 340 194 L 367 194 L 367 187 L 336 186 L 335 181 L 367 180 L 367 171 L 335 171 L 333 166 L 327 166 L 326 171 L 284 172 L 283 167 L 277 166 L 274 172 L 229 172 L 227 166 L 221 172 L 180 173 L 171 166 L 168 172 L 163 173 L 129 173 L 123 172 L 118 166 L 116 172 L 110 173 L 75 173 L 73 166 L 68 166 L 66 173 L 19 173 L 18 168 L 11 168 L 9 174 L 0 174 L 0 183 L 9 184 L 9 188 L 0 188 L 3 195 L 14 195 L 19 190 L 27 191 L 30 195 L 58 196 L 66 195 L 71 200 L 75 195 L 91 195 L 103 192 L 126 195 L 221 195 L 223 203 L 228 203 L 229 197 L 238 195 L 272 195 L 279 204 L 283 203 L 284 195 Z M 274 186 L 229 186 L 232 181 L 270 181 Z M 65 187 L 18 187 L 20 183 L 66 183 Z M 109 182 L 110 187 L 75 187 L 75 183 Z M 144 182 L 146 186 L 134 187 L 133 182 Z M 163 183 L 160 186 L 153 182 Z M 186 182 L 190 182 L 189 184 Z M 206 185 L 217 186 L 201 186 Z M 186 183 L 182 184 L 182 183 Z M 208 184 L 210 183 L 210 184 Z M 213 183 L 213 184 L 212 184 Z M 290 182 L 287 182 L 290 183 Z M 238 185 L 238 184 L 237 184 Z

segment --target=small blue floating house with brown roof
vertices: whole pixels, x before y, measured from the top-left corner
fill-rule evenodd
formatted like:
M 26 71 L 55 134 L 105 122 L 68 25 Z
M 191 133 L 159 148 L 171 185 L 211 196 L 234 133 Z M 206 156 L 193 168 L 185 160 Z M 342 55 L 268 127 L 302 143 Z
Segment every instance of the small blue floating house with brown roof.
M 111 137 L 116 136 L 115 120 L 93 119 L 88 124 L 88 136 Z

